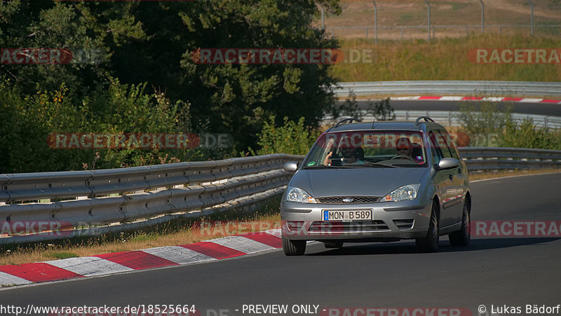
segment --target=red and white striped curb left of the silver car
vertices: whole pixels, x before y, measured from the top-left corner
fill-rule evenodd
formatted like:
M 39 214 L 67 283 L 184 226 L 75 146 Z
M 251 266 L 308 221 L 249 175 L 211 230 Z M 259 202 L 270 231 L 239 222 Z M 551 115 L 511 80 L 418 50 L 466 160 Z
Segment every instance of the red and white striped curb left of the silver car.
M 196 242 L 191 245 L 0 266 L 0 287 L 180 266 L 256 254 L 282 247 L 280 228 L 278 228 Z

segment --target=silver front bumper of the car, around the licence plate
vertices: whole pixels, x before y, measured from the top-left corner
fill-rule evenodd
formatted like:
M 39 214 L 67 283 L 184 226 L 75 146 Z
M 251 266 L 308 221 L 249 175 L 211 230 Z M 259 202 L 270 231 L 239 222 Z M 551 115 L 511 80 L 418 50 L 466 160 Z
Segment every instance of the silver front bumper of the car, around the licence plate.
M 367 204 L 314 204 L 283 201 L 280 217 L 283 236 L 290 240 L 348 242 L 393 241 L 424 237 L 431 217 L 431 200 Z M 372 210 L 372 220 L 324 221 L 327 210 Z

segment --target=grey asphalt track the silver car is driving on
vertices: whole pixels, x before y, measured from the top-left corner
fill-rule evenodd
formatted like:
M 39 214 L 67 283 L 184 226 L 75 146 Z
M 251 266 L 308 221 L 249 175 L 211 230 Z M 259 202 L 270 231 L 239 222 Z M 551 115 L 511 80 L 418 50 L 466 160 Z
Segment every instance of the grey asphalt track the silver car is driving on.
M 560 220 L 560 188 L 560 173 L 473 183 L 472 221 Z M 412 241 L 349 244 L 335 250 L 315 244 L 300 257 L 277 250 L 4 289 L 0 301 L 22 306 L 194 304 L 202 315 L 250 315 L 242 313 L 244 304 L 288 304 L 289 309 L 292 304 L 315 304 L 319 310 L 469 308 L 473 315 L 483 304 L 488 311 L 492 305 L 522 306 L 525 315 L 526 304 L 561 303 L 558 238 L 478 237 L 468 247 L 454 248 L 441 237 L 440 247 L 438 253 L 419 254 Z

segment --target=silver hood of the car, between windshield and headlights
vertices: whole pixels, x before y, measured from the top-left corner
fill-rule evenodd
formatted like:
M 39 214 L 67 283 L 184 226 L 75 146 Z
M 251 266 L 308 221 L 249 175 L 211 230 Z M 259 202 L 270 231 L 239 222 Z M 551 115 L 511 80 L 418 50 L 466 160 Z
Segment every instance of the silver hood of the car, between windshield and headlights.
M 302 188 L 313 197 L 342 195 L 384 196 L 407 184 L 419 184 L 428 168 L 339 168 L 299 170 L 291 187 Z

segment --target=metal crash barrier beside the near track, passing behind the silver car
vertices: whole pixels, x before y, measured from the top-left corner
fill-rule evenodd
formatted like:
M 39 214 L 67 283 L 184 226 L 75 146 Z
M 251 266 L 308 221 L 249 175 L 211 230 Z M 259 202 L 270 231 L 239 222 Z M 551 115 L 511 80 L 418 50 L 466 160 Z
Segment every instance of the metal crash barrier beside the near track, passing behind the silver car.
M 460 149 L 471 172 L 561 168 L 561 151 Z M 2 242 L 34 242 L 99 235 L 245 207 L 283 192 L 292 173 L 272 154 L 217 161 L 170 163 L 114 170 L 0 174 L 0 223 L 57 222 L 62 235 L 0 235 Z

